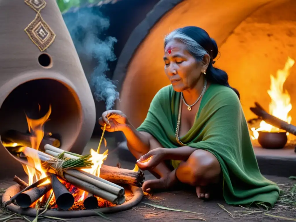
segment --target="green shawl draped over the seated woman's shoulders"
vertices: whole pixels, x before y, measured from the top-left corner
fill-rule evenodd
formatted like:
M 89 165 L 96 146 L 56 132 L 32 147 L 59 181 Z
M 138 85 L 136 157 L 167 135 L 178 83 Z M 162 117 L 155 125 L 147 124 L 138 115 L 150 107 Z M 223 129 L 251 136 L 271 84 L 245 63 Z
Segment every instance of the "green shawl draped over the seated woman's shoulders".
M 150 133 L 164 148 L 179 147 L 175 132 L 180 96 L 171 85 L 163 87 L 137 130 Z M 180 139 L 190 147 L 211 152 L 218 159 L 223 171 L 223 196 L 228 204 L 260 202 L 274 206 L 280 189 L 260 173 L 247 121 L 232 89 L 211 84 L 202 97 L 194 125 Z M 174 168 L 180 163 L 171 162 Z

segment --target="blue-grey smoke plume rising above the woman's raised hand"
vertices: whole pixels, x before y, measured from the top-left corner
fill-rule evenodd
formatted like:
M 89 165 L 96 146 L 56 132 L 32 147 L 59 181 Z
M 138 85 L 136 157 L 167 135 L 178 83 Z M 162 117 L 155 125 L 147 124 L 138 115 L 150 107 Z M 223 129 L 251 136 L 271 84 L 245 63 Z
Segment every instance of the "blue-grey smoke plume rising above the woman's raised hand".
M 68 14 L 68 13 L 67 13 Z M 70 13 L 69 13 L 70 14 Z M 119 98 L 114 82 L 107 78 L 108 61 L 116 60 L 113 46 L 117 39 L 104 37 L 104 31 L 110 26 L 108 18 L 91 8 L 82 8 L 71 15 L 64 15 L 75 48 L 90 61 L 96 59 L 97 65 L 89 78 L 89 85 L 97 101 L 106 103 L 106 110 L 112 109 Z

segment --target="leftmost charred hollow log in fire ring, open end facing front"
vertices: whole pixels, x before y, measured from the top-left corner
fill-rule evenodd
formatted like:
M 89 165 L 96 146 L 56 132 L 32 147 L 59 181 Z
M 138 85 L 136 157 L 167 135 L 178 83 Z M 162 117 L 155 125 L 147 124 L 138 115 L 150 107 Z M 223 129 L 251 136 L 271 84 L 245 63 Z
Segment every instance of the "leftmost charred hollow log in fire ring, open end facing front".
M 27 208 L 32 205 L 36 200 L 46 194 L 50 189 L 52 189 L 52 184 L 41 184 L 25 192 L 22 192 L 17 196 L 15 201 L 22 208 Z

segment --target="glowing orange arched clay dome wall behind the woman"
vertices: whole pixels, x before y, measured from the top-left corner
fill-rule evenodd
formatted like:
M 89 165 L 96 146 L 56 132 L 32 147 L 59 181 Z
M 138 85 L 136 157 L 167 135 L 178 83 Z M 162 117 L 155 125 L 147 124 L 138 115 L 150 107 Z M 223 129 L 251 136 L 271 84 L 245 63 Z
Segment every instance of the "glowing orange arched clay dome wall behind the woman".
M 255 101 L 268 110 L 271 101 L 267 94 L 269 75 L 276 75 L 288 56 L 296 59 L 295 8 L 293 0 L 181 2 L 156 25 L 152 24 L 153 28 L 134 51 L 126 72 L 120 68 L 124 65 L 118 62 L 117 74 L 119 76 L 121 72 L 125 78 L 117 109 L 126 113 L 135 126 L 141 124 L 155 93 L 169 84 L 163 71 L 163 38 L 175 28 L 196 25 L 207 30 L 217 41 L 221 57 L 215 66 L 226 70 L 230 84 L 242 95 L 246 118 L 254 118 L 249 107 Z M 132 37 L 136 42 L 136 37 Z M 293 97 L 295 70 L 296 65 L 284 85 L 292 97 L 292 104 L 296 102 Z M 296 121 L 295 112 L 292 108 L 292 123 Z

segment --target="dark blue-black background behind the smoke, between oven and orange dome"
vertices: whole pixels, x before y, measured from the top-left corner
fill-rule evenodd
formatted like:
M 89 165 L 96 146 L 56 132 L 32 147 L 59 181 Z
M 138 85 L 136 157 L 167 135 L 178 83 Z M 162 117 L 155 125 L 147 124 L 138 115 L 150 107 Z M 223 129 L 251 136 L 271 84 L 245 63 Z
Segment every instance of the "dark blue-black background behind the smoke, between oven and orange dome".
M 94 14 L 102 13 L 104 17 L 109 18 L 110 27 L 100 34 L 99 38 L 106 38 L 107 36 L 112 36 L 117 39 L 117 43 L 114 45 L 114 53 L 116 58 L 120 56 L 120 53 L 123 47 L 126 44 L 130 34 L 136 28 L 137 25 L 146 17 L 147 13 L 150 12 L 155 4 L 160 0 L 121 0 L 116 2 L 115 4 L 104 4 L 102 6 L 94 6 L 94 7 L 81 7 L 76 9 L 70 9 L 68 12 L 63 14 L 64 19 L 69 17 L 75 17 L 76 13 L 84 11 L 90 11 Z M 94 24 L 95 28 L 95 24 Z M 93 69 L 96 67 L 96 61 L 86 61 L 83 55 L 79 54 L 79 58 L 81 60 L 81 64 L 83 70 L 85 72 L 86 77 L 88 78 L 92 73 Z M 108 78 L 112 79 L 113 72 L 115 70 L 117 59 L 113 62 L 108 62 L 110 70 L 105 74 Z M 115 83 L 116 85 L 116 83 Z M 103 101 L 97 102 L 96 104 L 96 119 L 102 115 L 102 112 L 105 111 L 105 103 Z M 98 123 L 94 128 L 93 136 L 101 135 L 102 130 Z M 107 136 L 106 132 L 106 136 Z M 122 133 L 117 133 L 116 138 L 118 141 L 122 141 L 124 138 Z

